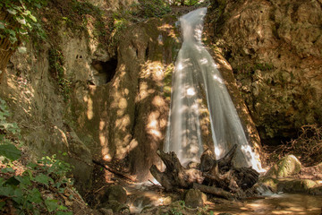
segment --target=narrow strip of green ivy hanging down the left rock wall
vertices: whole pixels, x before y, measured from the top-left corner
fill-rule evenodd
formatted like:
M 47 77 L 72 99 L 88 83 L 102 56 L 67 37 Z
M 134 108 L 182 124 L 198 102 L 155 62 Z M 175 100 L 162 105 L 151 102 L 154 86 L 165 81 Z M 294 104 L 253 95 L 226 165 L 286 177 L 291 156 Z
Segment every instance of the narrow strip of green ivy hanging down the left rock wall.
M 64 96 L 64 101 L 67 101 L 71 91 L 71 82 L 65 78 L 64 56 L 61 50 L 55 48 L 49 50 L 49 70 L 58 81 L 59 88 Z

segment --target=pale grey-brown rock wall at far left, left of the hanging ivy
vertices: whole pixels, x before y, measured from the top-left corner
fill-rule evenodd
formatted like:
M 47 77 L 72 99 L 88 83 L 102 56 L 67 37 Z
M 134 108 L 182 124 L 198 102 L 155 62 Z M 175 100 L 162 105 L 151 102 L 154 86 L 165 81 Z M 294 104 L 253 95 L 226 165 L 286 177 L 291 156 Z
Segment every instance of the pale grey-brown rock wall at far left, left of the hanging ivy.
M 16 51 L 0 84 L 0 96 L 10 107 L 11 120 L 21 128 L 25 153 L 34 159 L 57 154 L 71 163 L 75 185 L 84 193 L 91 185 L 91 153 L 69 125 L 68 104 L 49 72 L 48 49 L 46 44 L 41 51 L 29 44 L 27 53 Z

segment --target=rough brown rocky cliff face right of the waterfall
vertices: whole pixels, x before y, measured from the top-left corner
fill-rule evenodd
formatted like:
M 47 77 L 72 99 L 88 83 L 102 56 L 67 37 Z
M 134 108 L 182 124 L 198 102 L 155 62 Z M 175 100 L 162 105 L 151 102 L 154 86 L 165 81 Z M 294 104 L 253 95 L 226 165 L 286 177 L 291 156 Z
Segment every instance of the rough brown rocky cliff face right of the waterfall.
M 321 124 L 322 2 L 212 1 L 207 31 L 263 140 Z

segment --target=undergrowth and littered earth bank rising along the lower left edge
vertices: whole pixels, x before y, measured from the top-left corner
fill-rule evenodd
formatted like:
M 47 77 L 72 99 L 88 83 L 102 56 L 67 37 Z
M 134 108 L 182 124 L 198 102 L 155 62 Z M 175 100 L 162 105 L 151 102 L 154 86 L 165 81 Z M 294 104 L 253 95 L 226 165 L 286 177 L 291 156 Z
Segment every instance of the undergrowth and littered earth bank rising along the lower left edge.
M 66 176 L 72 167 L 55 155 L 37 162 L 21 156 L 20 129 L 7 121 L 8 116 L 0 99 L 0 213 L 72 214 L 65 204 L 80 198 Z

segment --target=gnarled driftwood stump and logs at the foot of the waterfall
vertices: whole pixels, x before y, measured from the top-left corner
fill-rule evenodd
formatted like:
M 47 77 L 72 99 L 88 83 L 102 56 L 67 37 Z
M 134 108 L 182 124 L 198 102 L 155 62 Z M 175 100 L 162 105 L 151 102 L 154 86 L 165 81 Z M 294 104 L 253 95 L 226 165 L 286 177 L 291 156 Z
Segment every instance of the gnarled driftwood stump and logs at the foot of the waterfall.
M 165 163 L 165 171 L 161 172 L 153 165 L 150 172 L 165 190 L 195 188 L 225 199 L 244 198 L 244 191 L 258 182 L 259 174 L 253 168 L 233 167 L 236 150 L 237 145 L 234 145 L 224 158 L 218 160 L 206 150 L 201 155 L 198 168 L 183 168 L 174 152 L 158 150 L 157 155 Z

